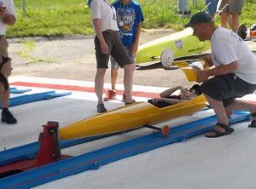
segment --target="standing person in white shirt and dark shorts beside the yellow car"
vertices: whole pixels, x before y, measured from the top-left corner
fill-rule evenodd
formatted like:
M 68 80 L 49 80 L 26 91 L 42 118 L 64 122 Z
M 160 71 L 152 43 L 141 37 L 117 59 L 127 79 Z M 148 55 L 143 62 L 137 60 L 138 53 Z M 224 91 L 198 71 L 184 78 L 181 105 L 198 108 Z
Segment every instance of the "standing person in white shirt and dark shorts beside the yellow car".
M 93 28 L 96 32 L 96 77 L 95 90 L 98 98 L 97 112 L 106 112 L 103 104 L 102 94 L 105 72 L 108 68 L 109 55 L 118 62 L 119 66 L 125 70 L 125 105 L 131 104 L 134 100 L 131 98 L 133 72 L 135 66 L 133 60 L 126 53 L 122 42 L 119 39 L 119 28 L 117 26 L 116 11 L 108 0 L 93 0 L 89 2 L 92 16 Z

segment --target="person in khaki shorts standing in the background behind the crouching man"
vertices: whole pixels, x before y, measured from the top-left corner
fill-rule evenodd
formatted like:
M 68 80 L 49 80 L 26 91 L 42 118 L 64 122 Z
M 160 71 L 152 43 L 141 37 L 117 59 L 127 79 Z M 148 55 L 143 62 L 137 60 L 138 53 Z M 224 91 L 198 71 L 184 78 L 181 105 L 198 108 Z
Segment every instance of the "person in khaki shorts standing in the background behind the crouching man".
M 229 6 L 226 6 L 220 13 L 222 27 L 226 28 L 228 23 L 230 23 L 232 31 L 238 33 L 239 15 L 241 14 L 243 2 L 244 0 L 219 0 L 218 11 L 223 9 L 227 3 L 229 4 Z

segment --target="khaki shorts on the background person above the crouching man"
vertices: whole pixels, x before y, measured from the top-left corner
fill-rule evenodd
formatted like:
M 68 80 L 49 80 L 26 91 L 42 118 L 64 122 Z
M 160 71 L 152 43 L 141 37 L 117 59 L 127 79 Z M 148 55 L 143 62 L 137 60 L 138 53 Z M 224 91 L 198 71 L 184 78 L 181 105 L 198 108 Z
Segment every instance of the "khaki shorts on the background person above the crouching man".
M 233 13 L 241 14 L 243 2 L 244 2 L 244 0 L 232 0 L 232 3 L 230 3 L 229 6 L 226 6 L 226 8 L 222 12 L 228 13 L 228 14 L 233 14 Z M 229 3 L 228 0 L 219 0 L 218 1 L 218 12 L 220 12 L 221 9 L 223 9 L 227 3 Z

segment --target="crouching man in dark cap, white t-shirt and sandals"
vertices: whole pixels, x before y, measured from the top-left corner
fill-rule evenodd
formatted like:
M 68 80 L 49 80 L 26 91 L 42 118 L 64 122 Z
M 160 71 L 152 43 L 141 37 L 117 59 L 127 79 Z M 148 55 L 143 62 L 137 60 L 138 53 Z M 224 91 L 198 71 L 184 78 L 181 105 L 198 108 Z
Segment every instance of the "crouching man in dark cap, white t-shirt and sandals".
M 206 136 L 218 137 L 234 131 L 226 111 L 251 112 L 251 127 L 256 127 L 255 102 L 236 99 L 256 89 L 256 60 L 252 51 L 234 31 L 215 26 L 209 14 L 194 14 L 187 26 L 193 28 L 193 34 L 200 41 L 212 43 L 212 57 L 208 57 L 208 61 L 213 67 L 197 72 L 201 91 L 218 117 L 215 128 Z

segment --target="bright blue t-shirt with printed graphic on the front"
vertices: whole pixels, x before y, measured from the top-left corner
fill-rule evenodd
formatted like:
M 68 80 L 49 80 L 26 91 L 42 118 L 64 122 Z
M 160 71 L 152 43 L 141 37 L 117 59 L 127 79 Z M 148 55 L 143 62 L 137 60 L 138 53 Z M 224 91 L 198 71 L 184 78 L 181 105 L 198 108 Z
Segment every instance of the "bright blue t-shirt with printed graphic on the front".
M 122 32 L 122 42 L 130 48 L 136 38 L 137 24 L 143 22 L 143 12 L 139 3 L 130 1 L 125 5 L 121 0 L 113 3 L 116 9 L 119 30 Z

